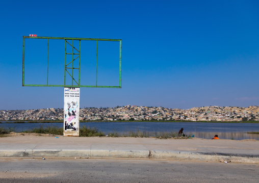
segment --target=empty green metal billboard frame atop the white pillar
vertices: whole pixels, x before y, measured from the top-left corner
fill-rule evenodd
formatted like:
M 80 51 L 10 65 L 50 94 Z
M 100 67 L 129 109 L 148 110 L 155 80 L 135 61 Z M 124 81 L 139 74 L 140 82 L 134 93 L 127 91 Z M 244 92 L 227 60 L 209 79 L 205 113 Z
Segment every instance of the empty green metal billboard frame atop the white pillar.
M 47 84 L 46 85 L 25 85 L 24 84 L 24 54 L 25 54 L 25 39 L 47 39 Z M 63 39 L 65 40 L 65 67 L 64 67 L 64 85 L 48 85 L 48 40 L 49 39 Z M 72 44 L 70 44 L 67 40 L 72 40 Z M 79 40 L 79 49 L 76 49 L 74 47 L 74 40 Z M 81 62 L 81 40 L 92 40 L 96 41 L 96 85 L 90 86 L 90 85 L 80 85 L 80 62 Z M 119 47 L 119 86 L 98 86 L 97 85 L 97 56 L 98 56 L 98 41 L 119 41 L 120 47 Z M 67 43 L 72 46 L 72 53 L 67 53 Z M 76 50 L 74 53 L 74 49 Z M 66 56 L 72 55 L 72 60 L 67 64 Z M 74 59 L 74 56 L 76 57 Z M 73 67 L 73 62 L 76 59 L 79 59 L 79 67 Z M 70 66 L 72 64 L 72 66 Z M 67 69 L 72 69 L 72 72 L 68 72 Z M 74 79 L 73 70 L 77 69 L 79 70 L 79 80 L 76 82 Z M 66 73 L 68 73 L 71 76 L 72 79 L 72 85 L 66 85 Z M 75 82 L 75 85 L 73 85 L 73 82 Z M 22 86 L 33 86 L 33 87 L 89 87 L 89 88 L 121 88 L 121 39 L 94 39 L 94 38 L 67 38 L 67 37 L 31 37 L 31 36 L 23 36 L 23 44 L 22 44 Z

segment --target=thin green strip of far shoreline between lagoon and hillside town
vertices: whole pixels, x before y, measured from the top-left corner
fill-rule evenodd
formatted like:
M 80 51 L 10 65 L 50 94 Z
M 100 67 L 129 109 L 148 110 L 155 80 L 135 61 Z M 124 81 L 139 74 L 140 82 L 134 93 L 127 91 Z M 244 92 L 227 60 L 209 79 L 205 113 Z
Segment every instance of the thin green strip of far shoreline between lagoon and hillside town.
M 0 120 L 0 123 L 5 122 L 5 123 L 63 123 L 63 120 Z M 179 122 L 189 122 L 189 123 L 259 123 L 259 121 L 185 121 L 185 120 L 168 120 L 168 121 L 162 121 L 162 120 L 150 120 L 150 121 L 140 121 L 140 120 L 135 120 L 135 121 L 121 121 L 121 120 L 116 120 L 116 121 L 100 121 L 100 120 L 80 120 L 80 122 L 108 122 L 108 123 L 114 123 L 114 122 L 173 122 L 173 123 L 179 123 Z

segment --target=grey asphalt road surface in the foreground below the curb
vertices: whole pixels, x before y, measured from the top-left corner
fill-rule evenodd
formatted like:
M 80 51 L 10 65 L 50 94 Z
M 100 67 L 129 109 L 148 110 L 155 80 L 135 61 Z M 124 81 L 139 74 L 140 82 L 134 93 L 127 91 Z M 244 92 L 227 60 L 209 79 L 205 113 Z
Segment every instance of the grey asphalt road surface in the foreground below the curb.
M 258 164 L 168 160 L 0 159 L 0 182 L 258 182 Z

